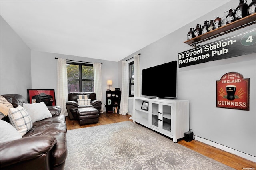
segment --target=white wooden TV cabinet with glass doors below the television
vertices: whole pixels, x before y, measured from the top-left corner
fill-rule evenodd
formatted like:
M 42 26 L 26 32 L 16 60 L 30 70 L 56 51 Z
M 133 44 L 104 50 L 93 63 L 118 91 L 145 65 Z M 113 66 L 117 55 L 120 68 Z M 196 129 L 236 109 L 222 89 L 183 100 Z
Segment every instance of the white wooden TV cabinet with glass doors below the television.
M 142 103 L 148 103 L 148 110 Z M 137 122 L 156 132 L 172 138 L 173 142 L 184 138 L 189 130 L 189 101 L 176 99 L 149 99 L 134 97 L 134 118 Z

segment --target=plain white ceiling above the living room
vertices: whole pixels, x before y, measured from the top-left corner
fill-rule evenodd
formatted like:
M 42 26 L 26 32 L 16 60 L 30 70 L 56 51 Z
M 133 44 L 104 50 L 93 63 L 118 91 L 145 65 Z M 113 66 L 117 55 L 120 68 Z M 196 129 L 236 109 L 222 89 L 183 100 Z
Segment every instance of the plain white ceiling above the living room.
M 1 0 L 0 13 L 31 50 L 120 61 L 226 2 Z

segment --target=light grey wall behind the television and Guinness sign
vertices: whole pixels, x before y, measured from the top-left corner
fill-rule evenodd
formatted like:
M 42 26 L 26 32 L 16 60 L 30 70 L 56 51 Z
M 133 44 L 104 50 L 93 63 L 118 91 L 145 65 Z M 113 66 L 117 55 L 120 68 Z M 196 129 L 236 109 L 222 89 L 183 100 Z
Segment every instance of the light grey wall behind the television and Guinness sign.
M 212 20 L 217 16 L 222 17 L 225 10 L 237 6 L 238 1 L 228 2 L 201 18 L 195 18 L 186 26 L 136 51 L 125 59 L 141 53 L 140 69 L 178 60 L 178 53 L 192 48 L 183 43 L 186 41 L 190 27 L 195 28 L 196 24 L 203 25 L 204 20 Z M 200 45 L 252 28 L 255 28 L 255 24 Z M 196 136 L 251 156 L 256 156 L 255 55 L 254 53 L 180 68 L 178 69 L 177 91 L 178 99 L 190 101 L 190 128 Z M 119 61 L 118 66 L 119 69 L 122 68 L 122 61 Z M 216 80 L 220 80 L 222 75 L 231 71 L 242 74 L 244 78 L 250 78 L 250 111 L 216 107 Z M 168 74 L 165 74 L 168 79 Z M 132 100 L 129 100 L 129 108 L 132 108 L 131 105 Z M 129 113 L 132 111 L 129 110 Z

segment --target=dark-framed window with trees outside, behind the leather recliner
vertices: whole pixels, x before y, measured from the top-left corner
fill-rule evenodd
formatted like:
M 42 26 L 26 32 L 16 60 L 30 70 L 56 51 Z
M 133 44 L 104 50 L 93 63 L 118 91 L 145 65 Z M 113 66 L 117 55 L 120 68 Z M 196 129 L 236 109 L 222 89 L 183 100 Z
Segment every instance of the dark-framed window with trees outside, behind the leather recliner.
M 93 65 L 67 63 L 68 93 L 94 91 Z

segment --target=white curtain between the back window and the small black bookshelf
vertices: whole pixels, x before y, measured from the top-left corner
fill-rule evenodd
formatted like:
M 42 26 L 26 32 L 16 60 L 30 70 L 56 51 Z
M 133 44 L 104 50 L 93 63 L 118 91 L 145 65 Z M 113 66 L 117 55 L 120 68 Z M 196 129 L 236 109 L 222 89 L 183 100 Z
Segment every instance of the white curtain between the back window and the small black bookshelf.
M 101 75 L 101 63 L 93 63 L 93 75 L 94 75 L 94 93 L 97 100 L 102 101 L 100 113 L 103 113 L 103 94 L 102 94 L 102 75 Z

